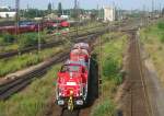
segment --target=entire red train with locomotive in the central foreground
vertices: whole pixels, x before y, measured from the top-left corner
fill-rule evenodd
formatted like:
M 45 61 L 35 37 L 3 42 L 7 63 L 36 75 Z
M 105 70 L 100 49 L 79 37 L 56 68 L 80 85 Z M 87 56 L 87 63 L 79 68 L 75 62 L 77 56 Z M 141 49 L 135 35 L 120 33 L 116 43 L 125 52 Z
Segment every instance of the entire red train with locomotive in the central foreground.
M 58 72 L 56 102 L 69 111 L 83 106 L 87 100 L 90 76 L 90 46 L 78 43 L 70 51 L 70 58 Z

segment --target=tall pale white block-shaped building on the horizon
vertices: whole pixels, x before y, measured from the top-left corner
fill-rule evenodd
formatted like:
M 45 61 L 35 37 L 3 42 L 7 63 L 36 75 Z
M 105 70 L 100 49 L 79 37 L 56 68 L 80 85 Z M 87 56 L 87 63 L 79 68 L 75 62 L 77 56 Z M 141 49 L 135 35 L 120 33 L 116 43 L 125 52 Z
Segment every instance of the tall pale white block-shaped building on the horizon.
M 106 7 L 104 8 L 104 21 L 115 21 L 116 20 L 116 10 L 115 8 Z

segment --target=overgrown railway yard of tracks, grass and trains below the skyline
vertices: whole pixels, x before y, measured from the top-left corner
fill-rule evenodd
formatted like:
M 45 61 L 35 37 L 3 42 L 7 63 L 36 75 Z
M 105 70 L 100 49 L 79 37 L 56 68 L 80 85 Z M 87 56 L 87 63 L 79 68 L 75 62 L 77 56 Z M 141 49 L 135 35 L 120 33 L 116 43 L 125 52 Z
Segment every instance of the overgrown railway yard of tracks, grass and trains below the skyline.
M 163 116 L 164 18 L 144 13 L 0 21 L 0 116 Z

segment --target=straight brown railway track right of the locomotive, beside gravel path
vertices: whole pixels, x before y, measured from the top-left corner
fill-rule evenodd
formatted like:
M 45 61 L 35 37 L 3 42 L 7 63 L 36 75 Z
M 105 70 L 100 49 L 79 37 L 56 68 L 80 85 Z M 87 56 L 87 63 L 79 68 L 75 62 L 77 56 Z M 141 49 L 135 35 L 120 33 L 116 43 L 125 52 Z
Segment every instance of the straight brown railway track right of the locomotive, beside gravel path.
M 137 32 L 130 32 L 128 93 L 124 100 L 124 116 L 155 116 L 149 98 Z

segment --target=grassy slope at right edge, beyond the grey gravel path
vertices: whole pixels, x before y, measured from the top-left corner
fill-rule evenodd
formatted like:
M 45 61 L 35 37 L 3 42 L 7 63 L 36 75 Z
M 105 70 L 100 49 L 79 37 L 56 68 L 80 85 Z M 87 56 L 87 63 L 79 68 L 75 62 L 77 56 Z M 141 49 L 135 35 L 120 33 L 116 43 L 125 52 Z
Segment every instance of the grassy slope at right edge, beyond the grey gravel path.
M 153 60 L 160 80 L 164 83 L 164 20 L 140 31 L 141 42 Z

